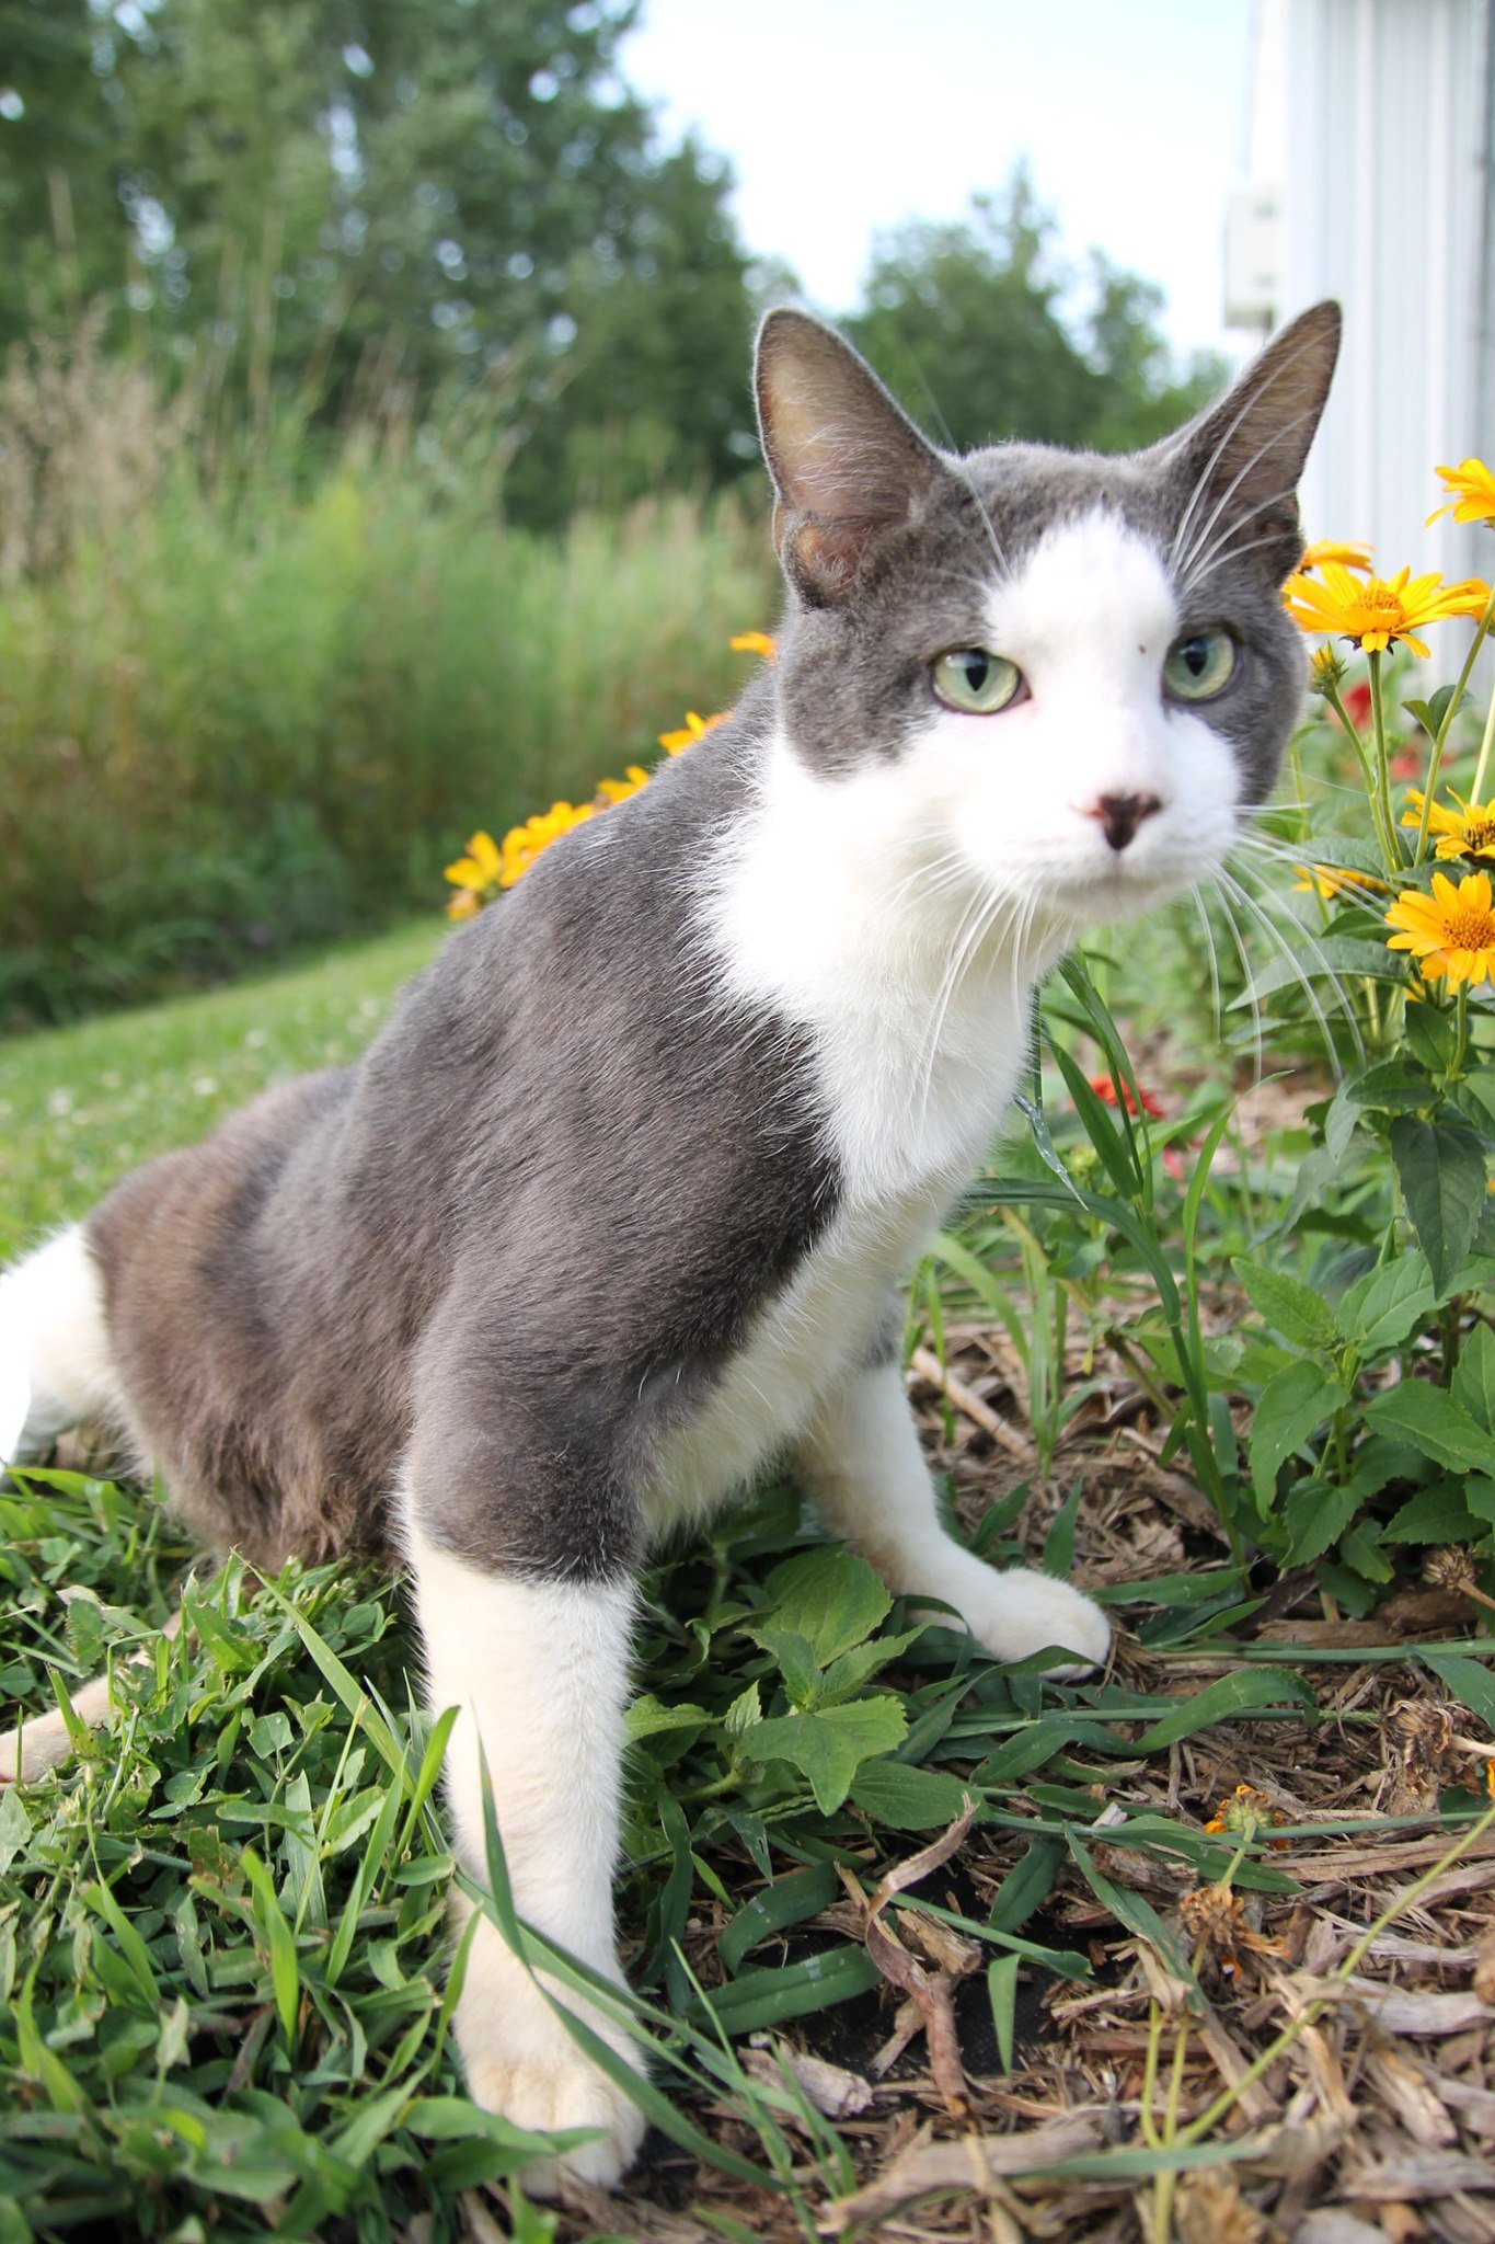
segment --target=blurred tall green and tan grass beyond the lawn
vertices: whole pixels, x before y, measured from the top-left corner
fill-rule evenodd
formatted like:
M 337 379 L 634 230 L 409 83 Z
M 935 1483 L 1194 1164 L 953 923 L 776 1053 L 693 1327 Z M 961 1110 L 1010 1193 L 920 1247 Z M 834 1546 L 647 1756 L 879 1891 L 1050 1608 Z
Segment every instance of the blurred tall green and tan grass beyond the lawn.
M 742 680 L 762 525 L 509 530 L 502 429 L 224 442 L 72 352 L 0 388 L 0 1021 L 435 904 L 442 864 Z

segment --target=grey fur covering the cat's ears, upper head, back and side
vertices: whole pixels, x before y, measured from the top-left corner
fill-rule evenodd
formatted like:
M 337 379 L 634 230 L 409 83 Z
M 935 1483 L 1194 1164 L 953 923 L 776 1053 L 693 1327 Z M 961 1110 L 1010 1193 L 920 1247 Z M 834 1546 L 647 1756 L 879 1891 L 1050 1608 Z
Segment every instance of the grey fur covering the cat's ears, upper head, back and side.
M 1334 307 L 1307 314 L 1150 453 L 953 462 L 843 343 L 771 314 L 778 669 L 455 934 L 359 1066 L 269 1093 L 90 1218 L 130 1434 L 197 1533 L 260 1564 L 379 1546 L 408 1474 L 426 1533 L 480 1566 L 637 1564 L 661 1436 L 841 1192 L 800 1032 L 728 1003 L 697 940 L 767 738 L 827 774 L 897 756 L 993 574 L 1101 503 L 1172 548 L 1186 626 L 1237 637 L 1208 718 L 1262 799 L 1302 684 L 1278 586 L 1336 334 Z

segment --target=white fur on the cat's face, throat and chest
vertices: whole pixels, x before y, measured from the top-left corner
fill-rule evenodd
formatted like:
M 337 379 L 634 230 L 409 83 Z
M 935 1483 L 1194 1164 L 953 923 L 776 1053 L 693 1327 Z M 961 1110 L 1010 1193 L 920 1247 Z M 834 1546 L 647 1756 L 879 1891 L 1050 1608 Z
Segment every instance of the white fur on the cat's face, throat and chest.
M 1107 512 L 1047 532 L 991 586 L 988 624 L 1027 700 L 932 705 L 899 756 L 834 776 L 771 743 L 713 866 L 728 994 L 811 1032 L 863 1210 L 948 1203 L 1018 1086 L 1042 974 L 1080 927 L 1179 893 L 1235 839 L 1231 745 L 1163 700 L 1179 617 L 1145 541 Z M 1163 808 L 1114 850 L 1101 794 Z

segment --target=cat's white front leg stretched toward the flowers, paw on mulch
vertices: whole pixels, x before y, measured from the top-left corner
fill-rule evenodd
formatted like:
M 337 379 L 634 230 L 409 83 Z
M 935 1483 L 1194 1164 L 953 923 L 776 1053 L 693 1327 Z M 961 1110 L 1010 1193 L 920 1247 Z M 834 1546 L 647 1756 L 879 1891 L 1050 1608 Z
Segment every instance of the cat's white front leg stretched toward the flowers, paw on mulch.
M 1051 1674 L 1101 1665 L 1112 1627 L 1101 1607 L 1049 1573 L 997 1573 L 939 1524 L 914 1418 L 894 1362 L 874 1364 L 832 1389 L 796 1447 L 825 1519 L 870 1560 L 888 1589 L 953 1604 L 997 1661 L 1047 1645 L 1080 1658 Z

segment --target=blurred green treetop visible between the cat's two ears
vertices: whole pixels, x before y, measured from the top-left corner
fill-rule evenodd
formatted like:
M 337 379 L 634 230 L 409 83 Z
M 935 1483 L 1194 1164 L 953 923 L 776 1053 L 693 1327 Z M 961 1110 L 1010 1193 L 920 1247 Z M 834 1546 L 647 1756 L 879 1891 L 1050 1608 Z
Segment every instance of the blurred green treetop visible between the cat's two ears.
M 1174 375 L 1161 292 L 1089 263 L 1092 305 L 1067 316 L 1074 274 L 1020 166 L 957 224 L 883 236 L 865 310 L 845 325 L 908 411 L 946 444 L 1002 438 L 1130 449 L 1177 426 L 1219 386 L 1215 361 Z

